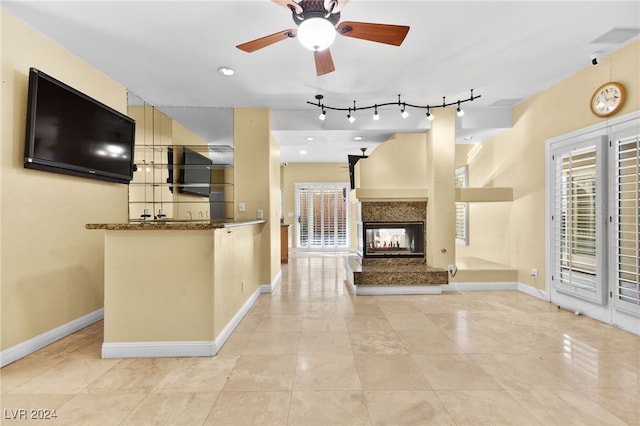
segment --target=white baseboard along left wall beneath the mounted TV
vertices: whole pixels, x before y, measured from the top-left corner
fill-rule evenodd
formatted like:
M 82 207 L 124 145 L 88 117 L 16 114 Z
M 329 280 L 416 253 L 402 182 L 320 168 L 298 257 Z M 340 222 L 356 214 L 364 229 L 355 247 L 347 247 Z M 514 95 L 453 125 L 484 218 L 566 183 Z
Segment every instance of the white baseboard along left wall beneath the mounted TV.
M 0 368 L 5 365 L 11 364 L 14 361 L 19 360 L 38 349 L 50 345 L 51 343 L 67 337 L 70 334 L 75 333 L 97 321 L 104 318 L 104 309 L 100 308 L 97 311 L 90 312 L 86 315 L 76 318 L 73 321 L 69 321 L 66 324 L 62 324 L 59 327 L 44 332 L 36 337 L 12 346 L 4 351 L 0 352 Z

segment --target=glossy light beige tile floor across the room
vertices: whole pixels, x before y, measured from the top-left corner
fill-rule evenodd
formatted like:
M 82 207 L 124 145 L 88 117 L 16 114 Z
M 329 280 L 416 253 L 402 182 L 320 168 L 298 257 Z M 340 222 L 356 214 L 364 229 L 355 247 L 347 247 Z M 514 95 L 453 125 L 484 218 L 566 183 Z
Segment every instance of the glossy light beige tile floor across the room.
M 0 370 L 1 423 L 640 424 L 640 337 L 516 291 L 356 297 L 342 265 L 292 255 L 212 358 L 103 360 L 87 327 Z

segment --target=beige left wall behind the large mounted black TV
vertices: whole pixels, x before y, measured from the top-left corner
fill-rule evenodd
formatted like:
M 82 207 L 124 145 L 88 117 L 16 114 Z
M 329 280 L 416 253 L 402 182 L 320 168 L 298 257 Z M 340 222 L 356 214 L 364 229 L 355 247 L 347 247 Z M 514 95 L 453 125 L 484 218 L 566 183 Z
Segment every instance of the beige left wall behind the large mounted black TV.
M 127 92 L 4 9 L 0 19 L 0 349 L 5 350 L 102 308 L 103 236 L 84 225 L 127 220 L 127 185 L 24 169 L 29 67 L 123 113 Z

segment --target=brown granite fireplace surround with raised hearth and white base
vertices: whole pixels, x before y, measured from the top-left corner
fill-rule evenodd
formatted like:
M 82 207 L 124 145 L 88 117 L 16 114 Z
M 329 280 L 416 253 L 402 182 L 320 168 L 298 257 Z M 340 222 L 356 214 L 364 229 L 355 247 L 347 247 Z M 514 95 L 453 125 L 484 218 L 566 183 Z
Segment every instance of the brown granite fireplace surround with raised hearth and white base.
M 448 284 L 446 270 L 427 265 L 426 256 L 400 258 L 362 257 L 363 222 L 424 221 L 427 252 L 427 201 L 363 201 L 358 206 L 359 253 L 345 262 L 347 276 L 356 294 L 439 294 Z

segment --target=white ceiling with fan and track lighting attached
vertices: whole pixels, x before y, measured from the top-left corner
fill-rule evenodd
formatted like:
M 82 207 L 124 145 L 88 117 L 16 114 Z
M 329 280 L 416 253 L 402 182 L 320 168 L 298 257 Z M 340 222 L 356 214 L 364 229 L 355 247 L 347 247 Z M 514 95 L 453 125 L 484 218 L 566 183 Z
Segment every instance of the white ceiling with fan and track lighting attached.
M 318 94 L 326 105 L 347 108 L 354 100 L 360 107 L 395 102 L 399 94 L 406 103 L 439 105 L 443 96 L 447 103 L 463 100 L 474 89 L 481 97 L 463 105 L 456 140 L 480 141 L 510 127 L 513 105 L 640 32 L 637 0 L 351 0 L 341 22 L 411 29 L 400 47 L 338 35 L 331 47 L 336 71 L 319 77 L 313 53 L 295 39 L 253 53 L 235 47 L 296 28 L 291 12 L 268 0 L 3 0 L 1 6 L 125 86 L 130 103 L 155 105 L 222 145 L 211 150 L 219 163 L 231 161 L 224 146 L 233 145 L 233 107 L 271 109 L 282 162 L 344 162 L 395 133 L 429 128 L 425 111 L 409 110 L 402 119 L 397 106 L 381 108 L 379 121 L 371 110 L 356 110 L 353 124 L 336 111 L 320 121 L 318 108 L 307 103 Z M 598 40 L 613 29 L 630 31 Z M 235 75 L 220 75 L 221 66 Z

